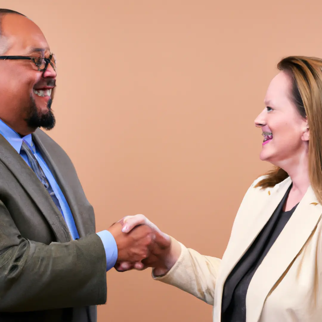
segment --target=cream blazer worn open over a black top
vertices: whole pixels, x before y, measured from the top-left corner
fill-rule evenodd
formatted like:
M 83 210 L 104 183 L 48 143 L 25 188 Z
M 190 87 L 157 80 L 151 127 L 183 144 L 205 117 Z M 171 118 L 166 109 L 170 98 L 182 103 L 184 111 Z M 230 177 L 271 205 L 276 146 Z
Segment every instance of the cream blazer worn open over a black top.
M 181 244 L 181 255 L 169 272 L 154 279 L 213 305 L 221 321 L 223 285 L 291 185 L 288 177 L 273 188 L 245 194 L 222 259 L 204 256 Z M 256 270 L 246 296 L 247 322 L 322 321 L 322 206 L 311 187 Z

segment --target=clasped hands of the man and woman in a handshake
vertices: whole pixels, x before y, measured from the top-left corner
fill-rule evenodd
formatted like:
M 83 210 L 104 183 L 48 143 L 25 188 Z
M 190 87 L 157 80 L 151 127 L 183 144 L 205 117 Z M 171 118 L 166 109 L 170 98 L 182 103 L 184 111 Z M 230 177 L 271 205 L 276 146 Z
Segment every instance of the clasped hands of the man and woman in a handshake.
M 154 275 L 163 275 L 181 253 L 177 241 L 141 214 L 122 218 L 109 228 L 109 232 L 118 246 L 118 259 L 114 266 L 118 271 L 152 267 Z

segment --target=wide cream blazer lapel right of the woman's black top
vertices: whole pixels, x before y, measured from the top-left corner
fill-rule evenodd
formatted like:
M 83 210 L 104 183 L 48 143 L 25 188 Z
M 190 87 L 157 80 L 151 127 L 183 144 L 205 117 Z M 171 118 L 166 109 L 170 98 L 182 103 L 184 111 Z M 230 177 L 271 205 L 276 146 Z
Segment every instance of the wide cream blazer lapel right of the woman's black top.
M 282 192 L 278 195 L 279 198 L 276 199 L 283 196 Z M 276 202 L 274 200 L 274 204 Z M 259 321 L 264 302 L 271 289 L 307 242 L 321 218 L 321 213 L 322 206 L 309 187 L 251 280 L 246 296 L 247 321 Z M 257 228 L 259 231 L 260 225 Z

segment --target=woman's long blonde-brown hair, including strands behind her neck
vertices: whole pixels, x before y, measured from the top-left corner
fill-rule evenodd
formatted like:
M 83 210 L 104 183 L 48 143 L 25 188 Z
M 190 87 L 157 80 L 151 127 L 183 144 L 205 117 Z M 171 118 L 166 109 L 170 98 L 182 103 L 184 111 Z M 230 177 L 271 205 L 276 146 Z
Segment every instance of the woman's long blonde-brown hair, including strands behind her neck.
M 322 59 L 289 56 L 283 58 L 277 68 L 292 78 L 291 99 L 299 114 L 308 120 L 309 178 L 312 189 L 322 204 Z M 257 187 L 273 187 L 289 176 L 279 167 L 273 168 L 266 175 Z

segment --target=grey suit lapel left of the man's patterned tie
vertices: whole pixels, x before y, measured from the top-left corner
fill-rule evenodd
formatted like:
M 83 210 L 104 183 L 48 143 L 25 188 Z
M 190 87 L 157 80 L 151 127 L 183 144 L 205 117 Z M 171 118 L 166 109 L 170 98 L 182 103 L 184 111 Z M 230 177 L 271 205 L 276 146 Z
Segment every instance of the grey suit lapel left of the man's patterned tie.
M 24 187 L 26 193 L 30 195 L 43 213 L 52 227 L 57 241 L 68 242 L 70 240 L 69 232 L 62 214 L 57 209 L 37 175 L 2 135 L 0 135 L 0 160 L 13 173 Z

